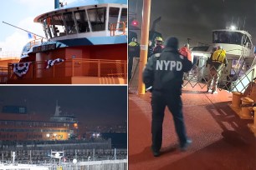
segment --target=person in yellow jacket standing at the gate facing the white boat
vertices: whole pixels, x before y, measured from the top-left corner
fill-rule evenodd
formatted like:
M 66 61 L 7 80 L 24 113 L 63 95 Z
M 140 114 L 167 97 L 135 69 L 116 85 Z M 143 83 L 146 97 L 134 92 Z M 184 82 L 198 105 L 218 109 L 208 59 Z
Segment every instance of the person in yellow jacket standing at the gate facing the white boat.
M 207 83 L 207 92 L 211 92 L 212 94 L 216 94 L 217 92 L 217 85 L 218 79 L 221 75 L 222 67 L 227 67 L 228 60 L 226 57 L 226 51 L 223 50 L 223 47 L 218 46 L 217 50 L 212 53 L 211 57 L 209 58 L 210 64 L 210 72 L 208 77 Z M 212 84 L 213 81 L 213 84 Z

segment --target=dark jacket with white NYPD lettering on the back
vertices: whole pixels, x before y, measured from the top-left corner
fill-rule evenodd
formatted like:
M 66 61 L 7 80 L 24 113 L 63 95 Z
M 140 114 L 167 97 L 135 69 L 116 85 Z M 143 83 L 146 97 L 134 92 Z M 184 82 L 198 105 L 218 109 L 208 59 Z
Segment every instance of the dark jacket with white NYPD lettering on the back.
M 166 47 L 160 57 L 151 57 L 143 72 L 143 82 L 152 91 L 182 94 L 183 72 L 192 68 L 192 62 L 177 50 Z

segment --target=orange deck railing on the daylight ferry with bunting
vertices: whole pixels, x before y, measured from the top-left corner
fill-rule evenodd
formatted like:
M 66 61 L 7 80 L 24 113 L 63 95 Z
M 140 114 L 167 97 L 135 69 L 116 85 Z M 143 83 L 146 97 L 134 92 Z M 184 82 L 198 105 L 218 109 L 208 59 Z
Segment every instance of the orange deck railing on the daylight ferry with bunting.
M 9 79 L 47 77 L 127 77 L 125 60 L 72 58 L 46 68 L 47 61 L 31 62 L 23 77 L 14 75 L 13 64 L 8 64 Z

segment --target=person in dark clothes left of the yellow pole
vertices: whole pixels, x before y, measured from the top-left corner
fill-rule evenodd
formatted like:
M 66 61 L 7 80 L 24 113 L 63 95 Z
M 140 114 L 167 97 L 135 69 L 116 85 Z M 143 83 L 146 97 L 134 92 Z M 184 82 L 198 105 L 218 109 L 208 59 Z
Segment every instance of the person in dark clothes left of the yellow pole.
M 133 57 L 140 57 L 141 47 L 137 42 L 137 38 L 133 37 L 131 42 L 128 44 L 128 81 L 131 81 L 131 70 L 133 64 Z

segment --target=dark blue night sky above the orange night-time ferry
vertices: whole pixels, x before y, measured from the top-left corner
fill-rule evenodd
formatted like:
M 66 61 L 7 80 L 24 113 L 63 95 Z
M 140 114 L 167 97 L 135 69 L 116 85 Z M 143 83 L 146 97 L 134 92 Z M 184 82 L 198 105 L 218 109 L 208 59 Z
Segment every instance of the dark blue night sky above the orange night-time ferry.
M 49 116 L 56 100 L 62 113 L 73 113 L 83 124 L 125 124 L 127 119 L 125 86 L 0 87 L 1 110 L 3 105 L 27 105 L 29 113 Z

